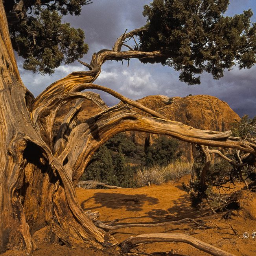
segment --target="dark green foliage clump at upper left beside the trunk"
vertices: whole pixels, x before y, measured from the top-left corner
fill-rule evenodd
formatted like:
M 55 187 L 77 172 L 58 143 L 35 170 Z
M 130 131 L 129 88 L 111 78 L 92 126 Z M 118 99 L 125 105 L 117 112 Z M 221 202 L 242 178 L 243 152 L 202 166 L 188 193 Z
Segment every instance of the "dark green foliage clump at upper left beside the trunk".
M 82 29 L 62 23 L 62 15 L 80 15 L 90 0 L 4 1 L 13 49 L 24 58 L 24 69 L 53 74 L 88 51 Z

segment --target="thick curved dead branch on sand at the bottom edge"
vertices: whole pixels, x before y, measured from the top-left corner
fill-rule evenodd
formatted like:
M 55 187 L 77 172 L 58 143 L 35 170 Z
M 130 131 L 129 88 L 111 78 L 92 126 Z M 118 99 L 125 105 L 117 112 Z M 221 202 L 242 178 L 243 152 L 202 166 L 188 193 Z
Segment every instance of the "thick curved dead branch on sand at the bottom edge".
M 135 237 L 130 237 L 125 239 L 120 247 L 123 252 L 129 252 L 131 249 L 136 247 L 141 243 L 155 243 L 155 242 L 182 242 L 188 243 L 193 247 L 202 250 L 204 252 L 208 252 L 214 256 L 234 256 L 229 252 L 225 252 L 217 247 L 209 245 L 208 243 L 204 243 L 203 241 L 193 238 L 192 236 L 188 236 L 185 234 L 143 234 Z

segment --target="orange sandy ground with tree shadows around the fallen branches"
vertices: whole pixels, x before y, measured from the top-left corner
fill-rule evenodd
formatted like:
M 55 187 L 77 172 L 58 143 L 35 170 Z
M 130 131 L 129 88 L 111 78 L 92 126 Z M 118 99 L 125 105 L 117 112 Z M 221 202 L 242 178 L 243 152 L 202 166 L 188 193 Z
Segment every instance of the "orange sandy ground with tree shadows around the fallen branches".
M 114 219 L 119 219 L 116 225 L 138 222 L 158 223 L 185 217 L 196 218 L 203 214 L 202 211 L 197 212 L 190 207 L 189 195 L 181 186 L 182 181 L 187 182 L 188 179 L 189 177 L 183 177 L 176 183 L 169 182 L 160 186 L 152 185 L 143 188 L 109 190 L 84 190 L 77 188 L 76 192 L 82 208 L 84 210 L 99 211 L 101 213 L 100 220 L 103 222 L 107 223 Z M 234 215 L 228 220 L 230 225 L 237 231 L 237 235 L 234 234 L 228 222 L 222 219 L 223 213 L 217 215 L 210 214 L 197 218 L 197 220 L 204 220 L 206 225 L 215 227 L 213 229 L 204 229 L 192 223 L 184 223 L 155 228 L 122 228 L 115 230 L 112 235 L 118 241 L 123 241 L 130 236 L 145 233 L 173 232 L 191 234 L 195 238 L 235 255 L 256 256 L 256 236 L 254 239 L 252 236 L 247 239 L 243 238 L 243 233 L 245 232 L 249 234 L 256 232 L 256 193 L 243 191 L 243 197 L 245 198 L 245 200 L 241 200 L 243 210 L 239 212 L 234 211 Z M 37 243 L 37 246 L 38 249 L 33 255 L 118 255 L 118 251 L 113 250 L 99 252 L 93 249 L 70 249 L 66 246 L 47 245 L 40 242 Z M 166 255 L 160 252 L 168 252 L 167 255 L 209 255 L 184 243 L 152 243 L 140 245 L 133 252 L 139 254 L 141 252 L 157 252 L 155 255 Z M 21 256 L 24 254 L 12 250 L 7 251 L 3 255 Z

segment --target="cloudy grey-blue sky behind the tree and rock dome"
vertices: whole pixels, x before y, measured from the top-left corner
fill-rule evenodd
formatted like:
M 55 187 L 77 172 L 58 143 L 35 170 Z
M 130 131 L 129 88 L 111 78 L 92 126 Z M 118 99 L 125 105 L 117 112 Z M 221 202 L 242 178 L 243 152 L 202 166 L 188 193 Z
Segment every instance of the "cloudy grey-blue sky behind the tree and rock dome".
M 63 17 L 75 28 L 85 31 L 89 52 L 83 61 L 90 63 L 92 53 L 101 49 L 112 49 L 112 46 L 125 29 L 140 28 L 145 24 L 142 15 L 144 4 L 150 0 L 94 0 L 93 4 L 83 7 L 79 17 Z M 255 13 L 252 21 L 256 22 L 255 0 L 230 0 L 227 15 L 242 13 L 251 8 Z M 44 88 L 72 71 L 84 70 L 79 63 L 60 66 L 52 76 L 40 76 L 22 69 L 22 59 L 18 58 L 22 80 L 31 92 L 37 96 Z M 160 64 L 142 64 L 132 59 L 127 63 L 109 61 L 102 67 L 101 75 L 95 83 L 112 88 L 123 95 L 139 99 L 147 95 L 162 94 L 169 97 L 187 96 L 188 94 L 208 94 L 226 101 L 240 116 L 256 116 L 256 66 L 250 70 L 234 68 L 225 72 L 219 80 L 209 74 L 201 75 L 201 85 L 188 86 L 179 81 L 179 73 Z M 94 90 L 95 92 L 98 92 Z M 108 105 L 118 100 L 101 93 Z

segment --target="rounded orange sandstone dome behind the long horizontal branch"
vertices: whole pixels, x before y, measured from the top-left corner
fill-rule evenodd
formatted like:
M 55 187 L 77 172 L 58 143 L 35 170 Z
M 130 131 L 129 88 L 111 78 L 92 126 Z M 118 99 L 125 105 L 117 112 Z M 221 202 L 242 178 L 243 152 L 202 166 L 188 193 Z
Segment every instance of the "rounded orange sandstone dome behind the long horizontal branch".
M 209 96 L 195 95 L 184 98 L 169 98 L 163 95 L 147 96 L 139 99 L 138 102 L 149 107 L 166 118 L 182 122 L 192 127 L 204 130 L 227 131 L 231 123 L 238 122 L 240 117 L 225 101 Z M 142 111 L 138 111 L 143 114 Z M 129 132 L 133 136 L 134 143 L 144 144 L 148 134 Z M 157 135 L 151 135 L 151 143 Z M 186 142 L 179 142 L 183 157 L 193 160 L 192 145 Z

